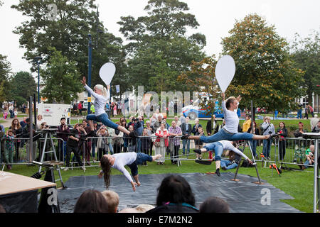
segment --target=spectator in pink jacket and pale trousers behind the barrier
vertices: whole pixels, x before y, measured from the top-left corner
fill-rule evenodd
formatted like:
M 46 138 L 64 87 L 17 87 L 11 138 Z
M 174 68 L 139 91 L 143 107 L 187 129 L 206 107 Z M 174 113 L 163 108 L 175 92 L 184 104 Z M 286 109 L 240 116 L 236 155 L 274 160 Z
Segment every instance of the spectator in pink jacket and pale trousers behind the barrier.
M 164 123 L 161 123 L 160 127 L 156 130 L 155 155 L 161 155 L 161 158 L 156 160 L 157 165 L 164 165 L 166 157 L 166 148 L 169 146 L 168 142 L 169 131 L 166 130 Z

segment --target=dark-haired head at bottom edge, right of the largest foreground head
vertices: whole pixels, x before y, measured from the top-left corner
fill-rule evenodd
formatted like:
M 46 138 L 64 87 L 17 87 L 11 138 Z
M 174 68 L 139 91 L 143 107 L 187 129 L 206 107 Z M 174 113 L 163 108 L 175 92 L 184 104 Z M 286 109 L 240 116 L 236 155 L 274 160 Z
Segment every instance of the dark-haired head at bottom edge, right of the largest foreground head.
M 200 213 L 229 213 L 229 205 L 215 196 L 207 198 L 199 207 Z

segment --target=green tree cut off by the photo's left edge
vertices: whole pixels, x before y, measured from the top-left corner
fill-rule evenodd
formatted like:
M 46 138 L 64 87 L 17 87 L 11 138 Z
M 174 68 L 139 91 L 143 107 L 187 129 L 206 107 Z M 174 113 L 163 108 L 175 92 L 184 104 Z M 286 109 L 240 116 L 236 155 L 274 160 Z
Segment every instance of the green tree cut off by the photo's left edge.
M 11 74 L 11 64 L 6 60 L 6 56 L 0 54 L 0 103 L 11 101 L 11 89 L 9 77 Z

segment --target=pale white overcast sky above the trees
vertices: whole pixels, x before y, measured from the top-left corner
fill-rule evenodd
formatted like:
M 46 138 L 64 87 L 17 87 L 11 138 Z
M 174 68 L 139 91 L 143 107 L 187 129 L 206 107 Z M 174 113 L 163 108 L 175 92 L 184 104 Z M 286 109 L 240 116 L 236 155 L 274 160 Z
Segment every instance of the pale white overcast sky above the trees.
M 219 55 L 221 52 L 221 38 L 228 36 L 236 20 L 242 20 L 249 13 L 258 13 L 264 16 L 269 25 L 274 25 L 277 33 L 286 38 L 289 43 L 294 34 L 299 33 L 302 38 L 312 30 L 320 30 L 320 1 L 319 0 L 181 0 L 189 7 L 188 13 L 196 16 L 200 24 L 198 29 L 188 33 L 203 33 L 206 35 L 207 55 Z M 111 3 L 112 2 L 112 3 Z M 119 33 L 120 16 L 143 16 L 146 14 L 144 6 L 148 0 L 96 0 L 99 4 L 100 21 L 110 33 L 121 37 Z M 31 65 L 24 60 L 24 49 L 19 48 L 19 35 L 14 34 L 14 28 L 19 26 L 26 17 L 10 6 L 18 4 L 18 0 L 4 0 L 0 6 L 0 53 L 6 55 L 11 62 L 13 72 L 29 72 Z M 33 75 L 36 76 L 36 75 Z

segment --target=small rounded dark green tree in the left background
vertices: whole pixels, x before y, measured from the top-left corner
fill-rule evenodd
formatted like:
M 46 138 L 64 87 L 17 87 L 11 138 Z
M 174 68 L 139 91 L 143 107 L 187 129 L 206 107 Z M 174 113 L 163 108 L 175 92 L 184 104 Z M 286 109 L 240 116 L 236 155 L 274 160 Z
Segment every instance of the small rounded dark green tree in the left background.
M 11 94 L 17 106 L 28 101 L 29 96 L 37 92 L 36 81 L 29 72 L 17 72 L 11 81 Z

